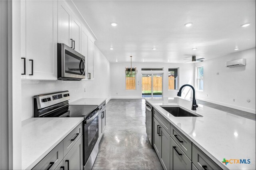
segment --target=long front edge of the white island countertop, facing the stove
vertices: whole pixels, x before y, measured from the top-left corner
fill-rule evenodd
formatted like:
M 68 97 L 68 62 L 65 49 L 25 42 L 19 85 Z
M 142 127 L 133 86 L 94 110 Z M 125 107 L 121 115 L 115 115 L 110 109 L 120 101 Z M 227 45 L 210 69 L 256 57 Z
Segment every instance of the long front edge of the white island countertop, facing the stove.
M 144 98 L 150 105 L 152 105 L 152 107 L 154 107 L 154 104 L 150 103 L 150 101 L 148 101 L 146 98 Z M 177 105 L 179 106 L 179 105 Z M 180 106 L 181 107 L 181 106 Z M 182 132 L 182 134 L 184 134 L 191 142 L 193 142 L 198 148 L 200 148 L 209 158 L 211 158 L 218 166 L 220 166 L 220 168 L 222 168 L 223 170 L 229 170 L 226 166 L 224 166 L 224 164 L 222 162 L 220 162 L 217 158 L 215 158 L 212 154 L 210 154 L 210 152 L 208 152 L 206 149 L 204 149 L 200 144 L 198 144 L 198 142 L 196 142 L 196 140 L 194 140 L 193 138 L 191 138 L 186 132 L 184 132 L 180 127 L 178 127 L 177 125 L 175 125 L 168 117 L 166 117 L 164 114 L 162 114 L 161 111 L 159 111 L 156 107 L 154 107 L 154 109 L 156 109 L 167 121 L 169 121 L 174 127 L 176 127 L 178 130 L 180 130 L 180 132 Z

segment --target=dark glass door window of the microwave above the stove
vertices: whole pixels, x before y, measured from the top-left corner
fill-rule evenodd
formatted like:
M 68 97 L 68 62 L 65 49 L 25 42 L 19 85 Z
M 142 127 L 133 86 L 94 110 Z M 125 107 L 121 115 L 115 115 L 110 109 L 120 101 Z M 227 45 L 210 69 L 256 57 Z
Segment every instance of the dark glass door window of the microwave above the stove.
M 68 50 L 65 50 L 65 73 L 84 75 L 85 61 Z

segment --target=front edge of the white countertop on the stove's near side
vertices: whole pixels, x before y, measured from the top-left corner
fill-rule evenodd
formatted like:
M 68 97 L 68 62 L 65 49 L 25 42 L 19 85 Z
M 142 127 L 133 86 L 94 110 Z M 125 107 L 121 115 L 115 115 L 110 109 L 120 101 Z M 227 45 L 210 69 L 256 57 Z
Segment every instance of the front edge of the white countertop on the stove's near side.
M 22 169 L 25 170 L 31 170 L 32 168 L 34 168 L 34 166 L 36 166 L 45 156 L 47 156 L 62 140 L 64 140 L 64 138 L 66 138 L 66 136 L 68 136 L 68 134 L 70 134 L 70 132 L 72 132 L 72 130 L 74 130 L 76 127 L 78 127 L 78 125 L 80 125 L 80 123 L 82 123 L 82 119 L 76 123 L 76 125 L 74 125 L 70 130 L 68 130 L 68 132 L 66 132 L 66 134 L 64 134 L 59 140 L 57 140 L 50 148 L 48 148 L 48 150 L 46 150 L 40 157 L 38 157 L 32 164 L 30 164 L 28 167 L 22 167 Z

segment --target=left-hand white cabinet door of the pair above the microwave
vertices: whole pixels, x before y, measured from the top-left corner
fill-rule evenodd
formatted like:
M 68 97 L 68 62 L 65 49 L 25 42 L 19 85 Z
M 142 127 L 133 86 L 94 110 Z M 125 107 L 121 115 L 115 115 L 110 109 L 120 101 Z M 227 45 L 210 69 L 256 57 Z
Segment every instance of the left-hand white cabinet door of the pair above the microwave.
M 72 46 L 72 13 L 62 0 L 58 1 L 58 43 Z

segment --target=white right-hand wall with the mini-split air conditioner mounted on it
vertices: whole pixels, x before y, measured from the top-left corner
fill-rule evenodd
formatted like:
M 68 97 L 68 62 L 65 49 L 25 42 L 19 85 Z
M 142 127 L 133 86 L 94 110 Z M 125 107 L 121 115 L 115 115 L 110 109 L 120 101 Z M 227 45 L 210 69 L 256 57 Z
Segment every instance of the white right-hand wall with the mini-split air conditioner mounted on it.
M 242 58 L 246 58 L 246 66 L 225 67 L 226 61 Z M 198 66 L 204 66 L 204 91 L 196 92 L 197 99 L 255 113 L 255 48 L 196 63 Z

